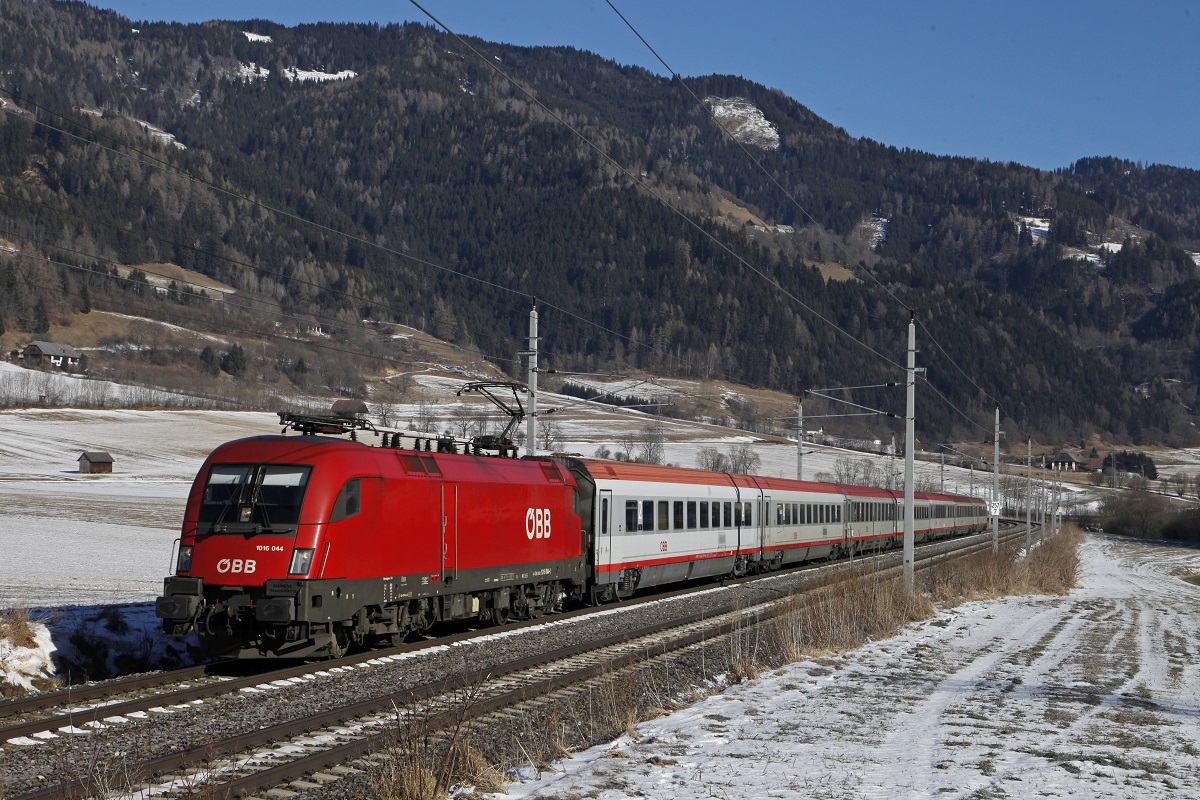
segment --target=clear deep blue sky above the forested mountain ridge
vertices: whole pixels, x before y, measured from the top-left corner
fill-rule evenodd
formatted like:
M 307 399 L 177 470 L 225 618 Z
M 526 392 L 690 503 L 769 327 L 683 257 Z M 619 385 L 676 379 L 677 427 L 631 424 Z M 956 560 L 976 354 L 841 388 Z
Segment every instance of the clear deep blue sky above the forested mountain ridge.
M 402 22 L 407 0 L 90 0 L 134 19 Z M 1044 169 L 1200 169 L 1200 0 L 613 0 L 684 76 L 740 74 L 852 136 Z M 664 72 L 604 0 L 425 0 L 460 34 Z M 308 65 L 299 65 L 308 66 Z

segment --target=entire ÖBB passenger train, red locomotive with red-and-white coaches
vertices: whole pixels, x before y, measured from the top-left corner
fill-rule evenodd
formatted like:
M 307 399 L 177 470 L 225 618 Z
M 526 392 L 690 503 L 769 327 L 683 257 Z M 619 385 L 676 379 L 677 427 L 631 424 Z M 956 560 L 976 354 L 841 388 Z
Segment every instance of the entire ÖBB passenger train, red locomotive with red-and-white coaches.
M 372 445 L 353 417 L 280 416 L 283 434 L 205 459 L 155 602 L 164 631 L 194 630 L 211 657 L 338 657 L 449 620 L 883 551 L 904 530 L 889 489 L 402 432 Z M 983 530 L 986 515 L 918 493 L 917 541 Z

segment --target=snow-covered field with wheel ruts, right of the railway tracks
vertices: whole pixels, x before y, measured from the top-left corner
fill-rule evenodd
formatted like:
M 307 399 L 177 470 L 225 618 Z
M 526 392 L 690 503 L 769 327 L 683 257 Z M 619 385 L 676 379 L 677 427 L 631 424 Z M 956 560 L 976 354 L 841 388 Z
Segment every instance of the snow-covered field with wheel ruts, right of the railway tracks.
M 1200 792 L 1200 551 L 1105 539 L 1067 597 L 976 602 L 526 770 L 496 798 Z

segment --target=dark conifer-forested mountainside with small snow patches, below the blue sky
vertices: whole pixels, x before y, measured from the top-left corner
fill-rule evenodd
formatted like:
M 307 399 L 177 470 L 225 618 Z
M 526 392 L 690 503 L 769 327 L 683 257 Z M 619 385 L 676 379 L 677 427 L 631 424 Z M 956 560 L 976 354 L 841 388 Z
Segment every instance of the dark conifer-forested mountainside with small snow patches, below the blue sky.
M 100 308 L 246 336 L 312 315 L 346 350 L 386 349 L 362 320 L 400 323 L 511 371 L 536 296 L 554 367 L 797 392 L 898 380 L 911 306 L 936 338 L 925 438 L 979 438 L 989 397 L 1045 440 L 1195 435 L 1200 174 L 935 157 L 737 77 L 688 79 L 778 131 L 742 145 L 671 79 L 469 46 L 482 58 L 420 25 L 7 2 L 0 239 L 22 255 L 0 253 L 0 333 Z M 163 263 L 253 311 L 128 279 Z M 851 277 L 827 279 L 834 263 Z M 302 380 L 294 350 L 262 357 Z M 340 361 L 324 383 L 361 391 Z

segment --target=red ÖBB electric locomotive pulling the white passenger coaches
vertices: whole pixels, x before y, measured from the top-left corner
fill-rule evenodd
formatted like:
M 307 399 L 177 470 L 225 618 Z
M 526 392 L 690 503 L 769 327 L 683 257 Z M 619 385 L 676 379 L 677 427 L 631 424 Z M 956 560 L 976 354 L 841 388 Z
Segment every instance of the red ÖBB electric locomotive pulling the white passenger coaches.
M 305 433 L 335 432 L 304 419 Z M 280 435 L 217 447 L 156 603 L 164 628 L 194 626 L 210 655 L 338 656 L 438 620 L 534 616 L 582 587 L 568 470 L 400 440 Z

